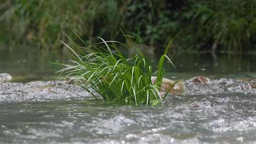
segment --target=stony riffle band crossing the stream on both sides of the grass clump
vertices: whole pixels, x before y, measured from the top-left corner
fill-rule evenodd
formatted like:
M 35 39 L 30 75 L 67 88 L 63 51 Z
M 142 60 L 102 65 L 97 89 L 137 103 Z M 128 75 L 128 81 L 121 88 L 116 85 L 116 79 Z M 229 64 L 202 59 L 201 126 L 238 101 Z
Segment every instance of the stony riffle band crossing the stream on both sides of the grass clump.
M 155 83 L 156 77 L 152 77 Z M 163 78 L 160 92 L 165 94 L 176 81 Z M 210 80 L 203 76 L 178 81 L 169 91 L 172 95 L 208 95 L 208 94 L 256 94 L 255 80 L 219 79 Z M 0 83 L 0 102 L 52 101 L 92 98 L 82 87 L 66 81 L 32 81 Z

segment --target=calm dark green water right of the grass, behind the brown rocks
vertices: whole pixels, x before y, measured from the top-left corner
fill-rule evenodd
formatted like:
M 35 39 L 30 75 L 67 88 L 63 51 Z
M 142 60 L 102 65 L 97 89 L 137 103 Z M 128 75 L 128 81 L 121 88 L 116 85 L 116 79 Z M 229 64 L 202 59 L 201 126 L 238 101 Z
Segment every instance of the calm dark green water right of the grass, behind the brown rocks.
M 213 72 L 236 73 L 256 72 L 256 55 L 241 54 L 178 54 L 170 55 L 177 69 L 176 72 Z

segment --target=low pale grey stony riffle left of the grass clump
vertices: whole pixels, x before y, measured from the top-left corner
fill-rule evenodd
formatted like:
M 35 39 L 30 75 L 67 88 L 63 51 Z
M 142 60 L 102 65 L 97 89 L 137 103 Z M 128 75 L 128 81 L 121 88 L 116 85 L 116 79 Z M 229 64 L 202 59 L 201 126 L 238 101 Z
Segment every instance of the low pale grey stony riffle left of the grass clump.
M 70 100 L 88 96 L 89 93 L 80 86 L 67 84 L 66 81 L 0 84 L 0 102 Z

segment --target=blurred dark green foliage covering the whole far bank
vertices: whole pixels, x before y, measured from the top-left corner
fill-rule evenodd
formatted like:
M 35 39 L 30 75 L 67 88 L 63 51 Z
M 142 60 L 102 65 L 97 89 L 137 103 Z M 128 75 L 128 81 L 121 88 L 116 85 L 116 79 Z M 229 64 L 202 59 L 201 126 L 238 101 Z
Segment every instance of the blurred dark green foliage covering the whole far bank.
M 76 32 L 91 44 L 120 28 L 147 45 L 177 51 L 256 50 L 256 0 L 0 0 L 0 42 L 59 49 Z

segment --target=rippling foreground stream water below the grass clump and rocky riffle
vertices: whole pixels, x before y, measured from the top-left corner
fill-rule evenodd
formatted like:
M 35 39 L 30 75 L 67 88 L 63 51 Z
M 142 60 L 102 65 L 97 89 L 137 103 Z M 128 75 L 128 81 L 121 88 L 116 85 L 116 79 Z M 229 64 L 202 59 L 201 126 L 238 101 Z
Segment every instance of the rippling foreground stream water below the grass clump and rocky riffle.
M 256 95 L 169 97 L 164 107 L 99 101 L 0 104 L 1 143 L 253 143 Z

